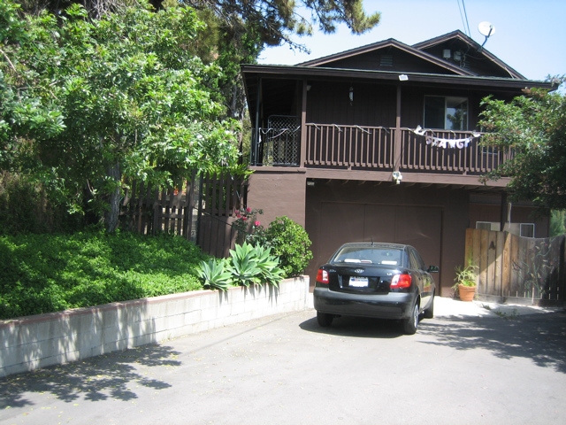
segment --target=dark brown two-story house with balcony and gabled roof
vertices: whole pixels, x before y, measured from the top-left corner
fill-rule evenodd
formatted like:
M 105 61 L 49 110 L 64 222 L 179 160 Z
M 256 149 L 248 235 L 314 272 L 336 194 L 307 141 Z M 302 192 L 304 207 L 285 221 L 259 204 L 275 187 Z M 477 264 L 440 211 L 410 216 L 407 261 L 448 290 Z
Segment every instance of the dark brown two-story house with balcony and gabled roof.
M 480 182 L 509 152 L 479 145 L 486 96 L 529 81 L 460 31 L 413 46 L 389 39 L 297 66 L 241 67 L 253 135 L 248 205 L 287 215 L 312 240 L 307 269 L 341 243 L 409 243 L 449 295 L 466 228 L 548 234 L 547 218 Z

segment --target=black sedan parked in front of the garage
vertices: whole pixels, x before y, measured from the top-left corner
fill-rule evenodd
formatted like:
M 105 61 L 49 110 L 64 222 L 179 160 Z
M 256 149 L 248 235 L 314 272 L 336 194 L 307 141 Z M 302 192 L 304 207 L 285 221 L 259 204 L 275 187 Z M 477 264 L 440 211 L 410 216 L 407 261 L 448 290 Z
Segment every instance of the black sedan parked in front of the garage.
M 419 316 L 434 314 L 435 284 L 418 251 L 398 243 L 345 243 L 318 269 L 314 306 L 320 326 L 334 317 L 362 316 L 401 320 L 417 331 Z

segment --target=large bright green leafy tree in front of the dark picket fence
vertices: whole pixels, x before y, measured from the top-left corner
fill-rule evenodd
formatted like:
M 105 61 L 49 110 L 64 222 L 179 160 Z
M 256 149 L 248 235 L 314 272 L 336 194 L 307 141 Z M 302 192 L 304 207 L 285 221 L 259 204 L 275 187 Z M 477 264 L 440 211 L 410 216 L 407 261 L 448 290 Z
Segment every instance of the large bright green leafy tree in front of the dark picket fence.
M 127 178 L 164 185 L 235 164 L 238 123 L 213 100 L 222 71 L 195 56 L 202 28 L 180 7 L 28 16 L 0 61 L 3 169 L 33 174 L 73 212 L 88 199 L 112 231 Z

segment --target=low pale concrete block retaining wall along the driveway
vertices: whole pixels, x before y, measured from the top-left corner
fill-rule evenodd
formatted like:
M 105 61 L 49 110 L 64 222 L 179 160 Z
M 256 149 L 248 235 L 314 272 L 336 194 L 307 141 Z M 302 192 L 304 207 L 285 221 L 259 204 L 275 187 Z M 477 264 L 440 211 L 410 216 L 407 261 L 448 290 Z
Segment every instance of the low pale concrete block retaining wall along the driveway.
M 0 321 L 0 377 L 310 307 L 309 277 Z

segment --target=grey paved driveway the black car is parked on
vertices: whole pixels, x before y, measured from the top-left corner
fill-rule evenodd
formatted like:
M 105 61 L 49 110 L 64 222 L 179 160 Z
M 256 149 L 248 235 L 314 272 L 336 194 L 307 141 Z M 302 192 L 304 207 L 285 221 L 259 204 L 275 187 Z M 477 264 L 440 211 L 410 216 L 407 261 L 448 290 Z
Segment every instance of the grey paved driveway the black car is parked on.
M 0 379 L 0 423 L 564 423 L 566 314 L 436 298 L 415 336 L 314 310 Z

